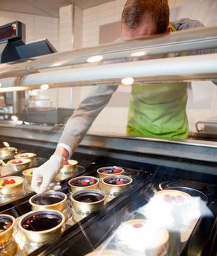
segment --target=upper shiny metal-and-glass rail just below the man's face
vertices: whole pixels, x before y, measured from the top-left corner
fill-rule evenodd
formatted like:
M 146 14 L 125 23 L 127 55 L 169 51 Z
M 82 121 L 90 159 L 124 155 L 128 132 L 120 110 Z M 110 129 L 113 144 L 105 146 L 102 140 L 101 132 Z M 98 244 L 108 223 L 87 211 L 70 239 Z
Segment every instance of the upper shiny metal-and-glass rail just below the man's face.
M 64 53 L 40 56 L 25 62 L 16 61 L 0 65 L 0 77 L 9 78 L 38 72 L 39 69 L 71 66 L 87 63 L 91 56 L 102 55 L 103 61 L 129 58 L 132 53 L 145 52 L 146 56 L 159 53 L 174 53 L 186 50 L 215 48 L 217 45 L 216 26 L 173 32 L 150 39 L 135 39 L 127 42 L 99 45 Z

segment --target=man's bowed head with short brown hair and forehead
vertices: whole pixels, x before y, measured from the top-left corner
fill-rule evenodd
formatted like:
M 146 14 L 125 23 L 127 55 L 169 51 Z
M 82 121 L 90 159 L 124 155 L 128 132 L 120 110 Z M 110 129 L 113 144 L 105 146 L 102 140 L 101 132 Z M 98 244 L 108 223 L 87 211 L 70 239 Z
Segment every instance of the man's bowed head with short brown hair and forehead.
M 135 39 L 165 33 L 169 16 L 167 0 L 127 0 L 122 12 L 122 36 Z

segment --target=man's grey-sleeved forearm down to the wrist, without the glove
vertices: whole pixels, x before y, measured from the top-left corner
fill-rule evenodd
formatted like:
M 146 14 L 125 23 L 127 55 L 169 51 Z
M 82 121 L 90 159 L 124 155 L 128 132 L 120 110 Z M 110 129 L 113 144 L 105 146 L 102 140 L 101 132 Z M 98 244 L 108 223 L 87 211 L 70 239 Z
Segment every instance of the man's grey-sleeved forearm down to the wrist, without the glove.
M 98 86 L 81 102 L 68 118 L 55 154 L 70 158 L 86 135 L 95 118 L 105 108 L 118 86 Z

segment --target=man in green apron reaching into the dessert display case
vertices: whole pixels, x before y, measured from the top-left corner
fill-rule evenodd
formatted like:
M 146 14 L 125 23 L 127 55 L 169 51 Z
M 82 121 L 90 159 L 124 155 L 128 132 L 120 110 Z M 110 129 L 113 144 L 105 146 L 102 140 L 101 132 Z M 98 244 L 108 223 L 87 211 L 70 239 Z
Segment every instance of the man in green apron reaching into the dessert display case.
M 122 12 L 122 39 L 148 37 L 202 26 L 197 20 L 169 23 L 167 0 L 127 0 Z M 209 51 L 210 52 L 210 51 Z M 201 53 L 206 53 L 206 51 Z M 98 86 L 82 101 L 66 124 L 55 153 L 33 172 L 32 188 L 44 192 L 86 135 L 118 86 Z M 134 85 L 130 98 L 127 135 L 187 138 L 187 83 Z

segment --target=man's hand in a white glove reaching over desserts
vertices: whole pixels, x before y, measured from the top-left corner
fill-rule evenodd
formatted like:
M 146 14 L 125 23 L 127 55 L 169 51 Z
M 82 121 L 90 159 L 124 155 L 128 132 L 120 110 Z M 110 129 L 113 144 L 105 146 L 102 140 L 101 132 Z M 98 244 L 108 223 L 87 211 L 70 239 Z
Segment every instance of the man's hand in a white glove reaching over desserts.
M 63 167 L 64 157 L 52 155 L 47 162 L 33 170 L 31 188 L 36 193 L 60 189 L 59 183 L 52 182 Z

